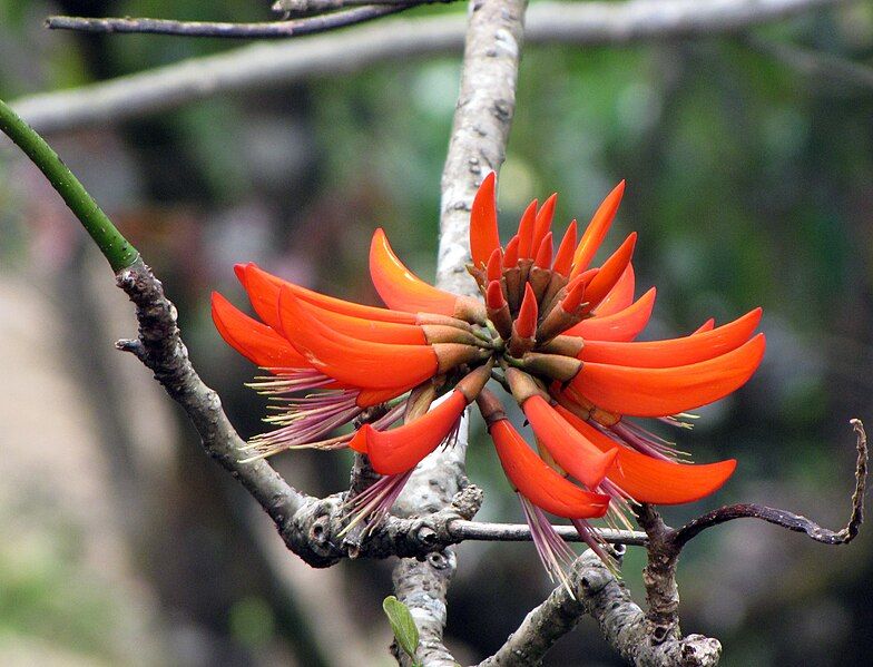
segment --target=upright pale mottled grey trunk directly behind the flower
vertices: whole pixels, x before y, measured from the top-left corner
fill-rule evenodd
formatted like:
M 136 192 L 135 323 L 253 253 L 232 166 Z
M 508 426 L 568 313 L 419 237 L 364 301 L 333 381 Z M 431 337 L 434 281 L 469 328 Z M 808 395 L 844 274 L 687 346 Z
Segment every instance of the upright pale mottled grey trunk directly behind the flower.
M 473 0 L 467 30 L 461 90 L 449 153 L 442 175 L 440 252 L 436 284 L 457 294 L 474 294 L 464 265 L 470 206 L 482 177 L 506 157 L 507 138 L 516 108 L 516 82 L 521 56 L 524 0 Z M 468 421 L 461 423 L 454 448 L 438 451 L 419 465 L 396 511 L 421 514 L 444 507 L 467 483 L 464 454 Z M 401 561 L 394 569 L 398 599 L 411 610 L 421 635 L 419 659 L 426 667 L 451 666 L 454 659 L 442 643 L 445 591 L 457 566 L 452 549 L 424 561 Z M 406 663 L 399 656 L 400 663 Z

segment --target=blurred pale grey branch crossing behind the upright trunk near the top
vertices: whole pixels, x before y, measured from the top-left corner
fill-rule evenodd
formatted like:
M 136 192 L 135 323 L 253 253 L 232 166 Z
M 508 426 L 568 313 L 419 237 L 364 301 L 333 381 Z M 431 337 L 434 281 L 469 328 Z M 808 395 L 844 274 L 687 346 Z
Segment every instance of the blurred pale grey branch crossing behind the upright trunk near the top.
M 622 45 L 735 32 L 845 0 L 663 0 L 660 2 L 542 2 L 527 14 L 529 45 Z M 463 45 L 460 14 L 394 19 L 342 35 L 256 45 L 193 58 L 12 106 L 41 133 L 118 122 L 224 95 L 360 71 L 372 65 L 454 52 Z

